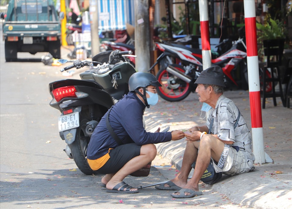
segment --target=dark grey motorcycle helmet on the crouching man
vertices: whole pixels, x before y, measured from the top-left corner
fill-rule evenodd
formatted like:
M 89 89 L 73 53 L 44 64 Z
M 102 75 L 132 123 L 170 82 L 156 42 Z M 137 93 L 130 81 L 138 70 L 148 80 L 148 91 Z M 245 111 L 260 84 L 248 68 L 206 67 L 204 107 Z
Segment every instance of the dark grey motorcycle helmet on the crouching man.
M 135 91 L 139 87 L 162 86 L 151 73 L 137 72 L 129 79 L 129 91 Z

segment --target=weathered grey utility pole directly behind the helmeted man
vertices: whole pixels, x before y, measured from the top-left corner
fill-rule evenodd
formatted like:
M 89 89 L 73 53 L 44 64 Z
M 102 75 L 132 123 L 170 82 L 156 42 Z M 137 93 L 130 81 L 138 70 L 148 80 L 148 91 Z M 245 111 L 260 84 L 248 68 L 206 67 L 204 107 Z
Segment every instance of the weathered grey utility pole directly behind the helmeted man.
M 134 1 L 136 70 L 147 72 L 150 68 L 150 37 L 148 0 Z

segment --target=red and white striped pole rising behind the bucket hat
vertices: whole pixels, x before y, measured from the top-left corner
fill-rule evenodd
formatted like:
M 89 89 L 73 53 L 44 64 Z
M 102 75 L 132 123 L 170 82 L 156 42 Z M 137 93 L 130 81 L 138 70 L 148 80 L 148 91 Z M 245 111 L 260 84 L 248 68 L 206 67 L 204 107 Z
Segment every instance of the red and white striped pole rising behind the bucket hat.
M 211 67 L 208 1 L 199 0 L 203 70 Z

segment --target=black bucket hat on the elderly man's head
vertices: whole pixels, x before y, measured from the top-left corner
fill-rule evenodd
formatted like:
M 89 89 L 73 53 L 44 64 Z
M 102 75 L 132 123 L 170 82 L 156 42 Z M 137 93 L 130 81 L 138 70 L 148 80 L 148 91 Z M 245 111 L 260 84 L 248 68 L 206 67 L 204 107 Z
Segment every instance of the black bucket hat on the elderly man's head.
M 214 84 L 225 87 L 222 68 L 215 65 L 203 70 L 195 84 Z

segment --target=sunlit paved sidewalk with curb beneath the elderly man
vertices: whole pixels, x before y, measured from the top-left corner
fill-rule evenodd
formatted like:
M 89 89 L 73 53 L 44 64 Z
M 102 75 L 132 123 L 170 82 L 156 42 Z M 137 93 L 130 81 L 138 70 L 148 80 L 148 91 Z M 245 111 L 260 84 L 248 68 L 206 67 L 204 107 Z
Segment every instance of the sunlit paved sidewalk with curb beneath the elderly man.
M 249 92 L 226 91 L 224 95 L 235 102 L 252 132 Z M 158 127 L 163 130 L 170 126 L 172 131 L 203 125 L 206 119 L 200 119 L 201 105 L 196 93 L 179 102 L 159 98 L 157 105 L 145 110 L 146 130 L 154 132 Z M 225 194 L 235 204 L 262 209 L 292 208 L 292 110 L 283 107 L 280 98 L 276 107 L 272 98 L 268 98 L 266 108 L 262 109 L 262 122 L 264 150 L 273 163 L 255 164 L 254 171 L 231 177 L 224 175 L 218 183 L 207 186 Z M 180 170 L 185 145 L 182 139 L 156 146 L 158 154 Z M 192 175 L 193 170 L 189 176 Z

